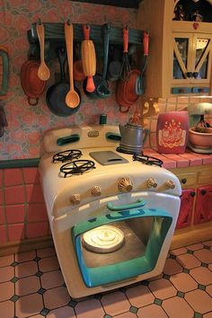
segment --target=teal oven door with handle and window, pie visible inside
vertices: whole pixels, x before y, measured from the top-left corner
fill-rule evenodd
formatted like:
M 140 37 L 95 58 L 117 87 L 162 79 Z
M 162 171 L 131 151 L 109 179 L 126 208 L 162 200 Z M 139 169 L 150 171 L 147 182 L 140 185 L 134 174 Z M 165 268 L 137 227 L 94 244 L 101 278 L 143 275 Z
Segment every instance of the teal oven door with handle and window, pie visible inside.
M 163 208 L 145 208 L 145 204 L 143 199 L 124 206 L 114 206 L 109 202 L 107 208 L 110 213 L 93 217 L 72 228 L 78 265 L 87 287 L 109 285 L 155 269 L 165 238 L 169 236 L 172 215 Z M 102 231 L 103 225 L 110 225 L 123 235 L 123 242 L 115 251 L 95 251 L 84 241 L 84 237 L 96 229 L 100 230 L 97 241 L 102 240 L 102 235 L 106 238 L 103 246 L 105 241 L 106 244 L 110 239 L 112 241 L 113 235 Z M 91 244 L 92 241 L 93 236 Z

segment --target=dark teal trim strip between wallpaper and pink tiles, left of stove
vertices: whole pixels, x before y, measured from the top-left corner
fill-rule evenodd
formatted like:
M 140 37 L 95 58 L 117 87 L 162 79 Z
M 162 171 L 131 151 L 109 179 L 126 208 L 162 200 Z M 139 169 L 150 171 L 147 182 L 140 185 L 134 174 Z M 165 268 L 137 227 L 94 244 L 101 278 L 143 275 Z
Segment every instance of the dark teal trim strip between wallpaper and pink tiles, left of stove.
M 0 161 L 0 169 L 38 167 L 40 158 Z

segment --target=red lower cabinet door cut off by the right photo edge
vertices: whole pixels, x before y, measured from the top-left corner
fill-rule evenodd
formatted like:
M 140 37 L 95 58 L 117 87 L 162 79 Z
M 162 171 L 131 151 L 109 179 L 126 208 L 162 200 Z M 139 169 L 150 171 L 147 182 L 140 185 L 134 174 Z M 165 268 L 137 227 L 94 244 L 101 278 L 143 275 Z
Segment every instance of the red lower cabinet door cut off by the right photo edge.
M 195 206 L 194 224 L 212 221 L 212 185 L 199 187 Z

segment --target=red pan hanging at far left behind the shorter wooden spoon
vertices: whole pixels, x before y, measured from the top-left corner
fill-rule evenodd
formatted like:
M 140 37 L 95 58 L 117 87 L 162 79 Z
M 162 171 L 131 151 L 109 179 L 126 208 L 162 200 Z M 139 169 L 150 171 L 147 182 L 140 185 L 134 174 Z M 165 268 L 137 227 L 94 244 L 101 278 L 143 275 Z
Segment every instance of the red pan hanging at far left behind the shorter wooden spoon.
M 29 60 L 23 63 L 21 68 L 21 85 L 23 92 L 27 95 L 27 100 L 31 106 L 39 102 L 39 98 L 46 88 L 46 81 L 40 80 L 38 70 L 40 63 Z

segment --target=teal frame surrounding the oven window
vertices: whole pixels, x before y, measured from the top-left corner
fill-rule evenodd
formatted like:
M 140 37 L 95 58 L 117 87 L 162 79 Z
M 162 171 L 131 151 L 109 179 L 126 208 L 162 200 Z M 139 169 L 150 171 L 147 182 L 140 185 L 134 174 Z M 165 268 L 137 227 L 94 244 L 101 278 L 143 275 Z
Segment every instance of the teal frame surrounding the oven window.
M 110 216 L 110 217 L 109 217 Z M 103 224 L 109 224 L 117 219 L 129 219 L 134 217 L 154 217 L 153 228 L 146 245 L 146 252 L 137 259 L 121 261 L 96 268 L 86 266 L 82 252 L 80 234 Z M 108 220 L 106 220 L 108 218 Z M 90 222 L 90 225 L 89 225 Z M 133 278 L 143 273 L 155 269 L 159 253 L 162 249 L 164 239 L 172 225 L 172 216 L 165 210 L 159 208 L 144 208 L 133 211 L 114 212 L 107 216 L 99 216 L 83 224 L 75 225 L 72 230 L 75 252 L 79 263 L 79 268 L 87 287 L 97 287 L 119 280 Z M 81 232 L 83 231 L 83 232 Z

